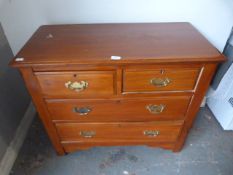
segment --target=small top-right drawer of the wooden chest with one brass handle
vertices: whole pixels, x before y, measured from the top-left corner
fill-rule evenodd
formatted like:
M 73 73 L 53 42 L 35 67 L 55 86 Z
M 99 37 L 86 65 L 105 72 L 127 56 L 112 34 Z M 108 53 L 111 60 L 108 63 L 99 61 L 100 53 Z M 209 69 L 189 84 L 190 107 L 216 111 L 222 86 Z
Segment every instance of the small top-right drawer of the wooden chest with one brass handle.
M 194 90 L 200 68 L 125 69 L 123 92 Z

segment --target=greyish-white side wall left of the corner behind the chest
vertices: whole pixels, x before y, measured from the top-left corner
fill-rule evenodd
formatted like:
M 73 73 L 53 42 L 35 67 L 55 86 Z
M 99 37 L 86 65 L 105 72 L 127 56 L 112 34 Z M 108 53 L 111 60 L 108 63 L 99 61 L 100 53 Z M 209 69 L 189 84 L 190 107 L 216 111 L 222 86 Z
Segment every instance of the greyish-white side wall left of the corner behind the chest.
M 0 22 L 14 54 L 45 23 L 37 0 L 1 0 Z

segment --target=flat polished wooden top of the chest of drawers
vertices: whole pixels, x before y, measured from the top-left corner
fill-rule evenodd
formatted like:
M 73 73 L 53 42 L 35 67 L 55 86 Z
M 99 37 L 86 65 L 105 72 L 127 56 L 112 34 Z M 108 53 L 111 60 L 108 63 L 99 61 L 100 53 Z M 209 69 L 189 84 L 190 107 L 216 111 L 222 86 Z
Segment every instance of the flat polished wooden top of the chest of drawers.
M 13 66 L 224 60 L 189 23 L 41 26 L 16 57 Z

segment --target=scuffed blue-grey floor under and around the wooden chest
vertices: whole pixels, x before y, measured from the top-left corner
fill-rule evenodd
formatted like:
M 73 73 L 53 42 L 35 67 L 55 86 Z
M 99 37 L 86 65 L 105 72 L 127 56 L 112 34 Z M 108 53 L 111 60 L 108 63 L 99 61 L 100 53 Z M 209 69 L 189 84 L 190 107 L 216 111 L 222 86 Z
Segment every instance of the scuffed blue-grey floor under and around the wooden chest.
M 146 146 L 97 147 L 57 156 L 35 119 L 11 175 L 233 175 L 233 132 L 202 108 L 179 153 Z

